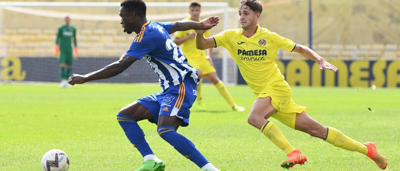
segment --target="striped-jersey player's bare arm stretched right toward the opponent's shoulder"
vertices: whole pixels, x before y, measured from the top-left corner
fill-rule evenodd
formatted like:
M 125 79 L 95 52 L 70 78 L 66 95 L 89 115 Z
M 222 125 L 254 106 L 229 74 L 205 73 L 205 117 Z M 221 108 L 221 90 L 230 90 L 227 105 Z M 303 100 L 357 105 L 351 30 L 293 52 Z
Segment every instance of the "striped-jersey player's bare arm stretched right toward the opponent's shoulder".
M 186 31 L 186 30 L 210 30 L 212 27 L 216 26 L 220 18 L 218 16 L 208 17 L 201 22 L 195 22 L 190 20 L 176 21 L 172 22 L 172 29 L 170 34 L 176 31 Z

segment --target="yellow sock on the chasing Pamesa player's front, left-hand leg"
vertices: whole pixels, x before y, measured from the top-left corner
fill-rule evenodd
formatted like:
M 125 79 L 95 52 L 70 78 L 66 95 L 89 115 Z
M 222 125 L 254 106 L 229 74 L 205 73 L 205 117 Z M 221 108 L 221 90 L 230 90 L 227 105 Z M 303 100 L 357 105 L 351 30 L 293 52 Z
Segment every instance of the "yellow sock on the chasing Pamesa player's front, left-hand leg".
M 286 155 L 296 150 L 282 134 L 279 128 L 271 121 L 267 121 L 260 130 L 276 146 L 285 151 Z

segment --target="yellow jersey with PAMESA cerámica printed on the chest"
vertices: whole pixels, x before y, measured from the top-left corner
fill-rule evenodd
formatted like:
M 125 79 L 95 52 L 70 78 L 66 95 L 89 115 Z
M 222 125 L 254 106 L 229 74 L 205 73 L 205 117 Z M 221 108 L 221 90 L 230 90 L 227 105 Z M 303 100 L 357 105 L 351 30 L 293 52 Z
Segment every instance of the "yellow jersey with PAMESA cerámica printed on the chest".
M 257 32 L 247 38 L 243 29 L 230 29 L 212 36 L 216 47 L 226 48 L 238 64 L 252 91 L 260 94 L 267 85 L 284 80 L 275 63 L 278 48 L 292 52 L 296 44 L 257 24 Z

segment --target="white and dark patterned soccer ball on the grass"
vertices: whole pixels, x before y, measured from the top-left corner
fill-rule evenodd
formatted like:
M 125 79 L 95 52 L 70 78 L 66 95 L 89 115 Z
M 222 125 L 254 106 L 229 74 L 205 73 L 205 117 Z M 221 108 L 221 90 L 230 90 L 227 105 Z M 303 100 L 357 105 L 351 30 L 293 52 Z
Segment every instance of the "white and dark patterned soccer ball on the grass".
M 52 149 L 42 157 L 42 168 L 44 171 L 67 171 L 70 160 L 64 151 Z

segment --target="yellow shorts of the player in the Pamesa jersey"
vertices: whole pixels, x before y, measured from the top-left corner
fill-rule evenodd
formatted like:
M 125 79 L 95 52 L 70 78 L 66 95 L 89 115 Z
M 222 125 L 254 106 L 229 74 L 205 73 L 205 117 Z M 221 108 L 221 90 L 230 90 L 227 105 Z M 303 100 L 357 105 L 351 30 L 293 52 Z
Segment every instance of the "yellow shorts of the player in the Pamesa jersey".
M 292 100 L 292 89 L 285 80 L 274 82 L 260 93 L 257 98 L 271 97 L 271 104 L 277 111 L 273 118 L 294 129 L 296 113 L 307 112 L 307 107 L 298 105 Z

